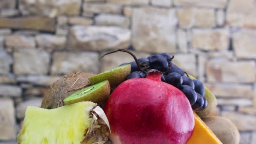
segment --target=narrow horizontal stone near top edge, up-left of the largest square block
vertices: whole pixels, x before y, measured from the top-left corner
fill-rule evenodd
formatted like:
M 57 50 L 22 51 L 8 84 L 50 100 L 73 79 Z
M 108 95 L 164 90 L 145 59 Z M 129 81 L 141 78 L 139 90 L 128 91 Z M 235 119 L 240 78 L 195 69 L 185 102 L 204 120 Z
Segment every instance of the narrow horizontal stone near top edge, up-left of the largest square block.
M 117 4 L 106 3 L 85 3 L 83 11 L 92 13 L 122 13 L 122 6 Z

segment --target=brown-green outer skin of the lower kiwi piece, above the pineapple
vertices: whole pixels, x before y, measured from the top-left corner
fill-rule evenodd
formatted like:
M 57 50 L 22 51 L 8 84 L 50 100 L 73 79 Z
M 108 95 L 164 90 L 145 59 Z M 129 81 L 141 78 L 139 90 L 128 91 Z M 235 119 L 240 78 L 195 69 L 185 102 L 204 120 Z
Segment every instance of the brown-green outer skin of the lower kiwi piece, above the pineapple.
M 107 99 L 109 98 L 109 95 L 110 95 L 110 84 L 109 84 L 109 81 L 107 81 L 106 84 L 102 85 L 97 90 L 86 94 L 85 96 L 81 96 L 78 99 L 72 99 L 69 101 L 66 101 L 64 99 L 63 102 L 65 105 L 69 105 L 69 104 L 75 104 L 75 103 L 81 102 L 81 101 L 91 101 L 91 102 L 98 104 L 100 107 L 102 107 L 102 106 L 104 106 Z M 70 96 L 72 96 L 72 95 L 70 95 Z

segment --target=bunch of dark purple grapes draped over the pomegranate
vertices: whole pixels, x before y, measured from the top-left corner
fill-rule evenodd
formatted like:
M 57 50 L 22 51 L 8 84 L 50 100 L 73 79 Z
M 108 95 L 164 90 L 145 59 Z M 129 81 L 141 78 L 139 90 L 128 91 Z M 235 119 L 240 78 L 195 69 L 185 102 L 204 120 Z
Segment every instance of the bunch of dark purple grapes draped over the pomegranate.
M 187 96 L 194 111 L 205 109 L 208 102 L 204 97 L 203 83 L 199 80 L 191 80 L 182 69 L 173 64 L 173 58 L 174 56 L 168 53 L 161 53 L 138 59 L 139 66 L 136 61 L 124 63 L 131 64 L 131 74 L 127 79 L 145 78 L 150 71 L 158 70 L 163 73 L 161 78 L 163 82 L 179 88 Z

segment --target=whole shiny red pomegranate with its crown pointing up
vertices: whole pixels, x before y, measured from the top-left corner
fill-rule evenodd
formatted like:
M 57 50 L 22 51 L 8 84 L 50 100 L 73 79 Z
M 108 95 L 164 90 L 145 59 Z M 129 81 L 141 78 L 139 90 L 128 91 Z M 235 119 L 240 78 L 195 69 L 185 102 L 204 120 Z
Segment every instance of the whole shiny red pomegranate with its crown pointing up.
M 104 111 L 115 144 L 185 144 L 195 120 L 187 97 L 161 81 L 162 73 L 126 80 L 110 95 Z

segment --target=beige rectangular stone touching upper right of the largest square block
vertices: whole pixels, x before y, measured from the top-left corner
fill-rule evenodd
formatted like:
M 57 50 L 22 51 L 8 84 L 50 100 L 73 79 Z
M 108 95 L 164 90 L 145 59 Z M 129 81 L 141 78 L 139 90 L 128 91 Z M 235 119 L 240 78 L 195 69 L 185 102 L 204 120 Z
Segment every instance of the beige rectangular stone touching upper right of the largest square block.
M 211 28 L 215 26 L 215 11 L 209 8 L 182 8 L 178 9 L 179 27 Z

